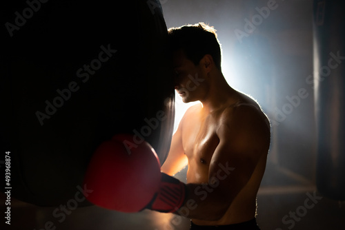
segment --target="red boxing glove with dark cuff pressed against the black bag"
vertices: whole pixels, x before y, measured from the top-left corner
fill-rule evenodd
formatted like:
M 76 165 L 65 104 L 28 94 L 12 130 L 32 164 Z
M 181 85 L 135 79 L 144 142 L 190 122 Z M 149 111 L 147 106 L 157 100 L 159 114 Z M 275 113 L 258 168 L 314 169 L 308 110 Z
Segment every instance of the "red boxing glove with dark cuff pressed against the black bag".
M 132 143 L 132 145 L 128 145 Z M 102 143 L 92 156 L 84 183 L 93 204 L 122 212 L 152 209 L 177 211 L 186 197 L 186 185 L 160 171 L 155 150 L 145 141 L 136 145 L 130 135 Z

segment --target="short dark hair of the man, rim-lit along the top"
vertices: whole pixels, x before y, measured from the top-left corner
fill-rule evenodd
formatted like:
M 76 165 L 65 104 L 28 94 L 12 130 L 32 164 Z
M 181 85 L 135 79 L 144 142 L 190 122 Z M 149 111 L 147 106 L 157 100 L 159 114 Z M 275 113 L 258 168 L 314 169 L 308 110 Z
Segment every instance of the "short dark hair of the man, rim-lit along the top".
M 221 44 L 217 39 L 217 30 L 205 23 L 183 25 L 168 30 L 172 51 L 184 50 L 187 59 L 199 65 L 200 60 L 210 54 L 215 66 L 221 70 Z

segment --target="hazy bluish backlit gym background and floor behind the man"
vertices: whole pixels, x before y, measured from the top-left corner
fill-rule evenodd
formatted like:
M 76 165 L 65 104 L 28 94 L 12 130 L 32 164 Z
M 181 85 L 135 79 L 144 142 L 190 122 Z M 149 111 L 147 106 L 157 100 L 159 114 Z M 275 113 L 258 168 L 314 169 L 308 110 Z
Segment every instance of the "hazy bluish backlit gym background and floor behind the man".
M 222 45 L 222 70 L 228 83 L 256 98 L 271 121 L 275 121 L 268 165 L 257 197 L 259 226 L 264 230 L 344 229 L 345 203 L 329 198 L 322 198 L 313 208 L 306 209 L 294 225 L 292 221 L 282 221 L 290 212 L 303 210 L 307 194 L 313 196 L 316 191 L 313 85 L 306 82 L 313 75 L 313 1 L 277 0 L 277 8 L 242 42 L 235 30 L 244 31 L 244 19 L 258 14 L 255 8 L 267 6 L 267 1 L 165 0 L 161 3 L 168 28 L 199 21 L 215 26 Z M 301 89 L 308 96 L 300 98 L 293 109 L 286 110 L 291 108 L 286 97 L 298 95 Z M 176 105 L 178 123 L 186 106 L 179 101 Z M 284 116 L 279 116 L 279 111 Z M 185 180 L 186 169 L 177 177 Z M 1 196 L 1 207 L 5 207 Z M 52 215 L 57 207 L 35 207 L 12 200 L 11 208 L 10 228 L 4 225 L 4 220 L 0 224 L 6 229 L 44 229 L 49 221 L 56 229 L 76 230 L 182 230 L 189 225 L 186 218 L 154 211 L 126 214 L 82 207 L 59 222 Z

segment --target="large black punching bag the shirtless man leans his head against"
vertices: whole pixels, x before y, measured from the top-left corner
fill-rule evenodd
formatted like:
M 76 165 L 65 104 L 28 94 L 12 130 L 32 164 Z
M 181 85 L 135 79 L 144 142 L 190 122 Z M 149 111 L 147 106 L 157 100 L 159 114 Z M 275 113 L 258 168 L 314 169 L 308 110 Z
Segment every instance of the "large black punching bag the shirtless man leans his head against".
M 119 133 L 164 163 L 174 85 L 159 1 L 6 1 L 1 11 L 2 190 L 66 204 L 95 149 Z

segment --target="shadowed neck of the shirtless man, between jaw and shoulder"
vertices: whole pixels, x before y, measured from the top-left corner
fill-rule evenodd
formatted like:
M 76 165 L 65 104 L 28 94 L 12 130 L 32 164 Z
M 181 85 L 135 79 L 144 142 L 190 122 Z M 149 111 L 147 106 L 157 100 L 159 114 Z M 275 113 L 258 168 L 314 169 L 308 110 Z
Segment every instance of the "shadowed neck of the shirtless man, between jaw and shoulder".
M 235 102 L 236 91 L 228 85 L 220 71 L 210 76 L 210 88 L 201 101 L 205 112 L 213 112 Z

